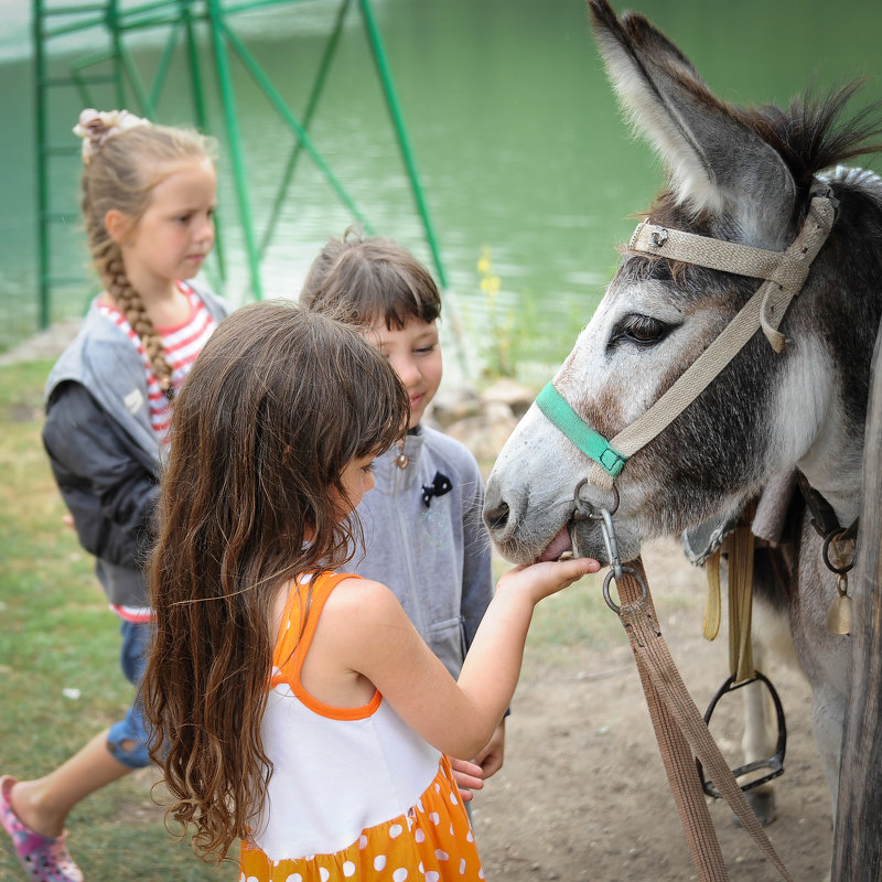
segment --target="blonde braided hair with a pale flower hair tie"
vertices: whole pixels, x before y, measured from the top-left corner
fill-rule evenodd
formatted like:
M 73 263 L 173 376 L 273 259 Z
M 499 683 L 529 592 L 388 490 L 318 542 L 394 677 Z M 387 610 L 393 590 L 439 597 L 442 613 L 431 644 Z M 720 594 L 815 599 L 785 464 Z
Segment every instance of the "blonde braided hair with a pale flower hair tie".
M 214 142 L 198 132 L 151 125 L 126 110 L 84 110 L 74 132 L 83 143 L 83 217 L 92 260 L 107 292 L 141 340 L 150 366 L 171 398 L 172 367 L 140 293 L 129 281 L 122 249 L 107 230 L 107 213 L 122 213 L 135 227 L 154 186 L 186 160 L 214 155 Z

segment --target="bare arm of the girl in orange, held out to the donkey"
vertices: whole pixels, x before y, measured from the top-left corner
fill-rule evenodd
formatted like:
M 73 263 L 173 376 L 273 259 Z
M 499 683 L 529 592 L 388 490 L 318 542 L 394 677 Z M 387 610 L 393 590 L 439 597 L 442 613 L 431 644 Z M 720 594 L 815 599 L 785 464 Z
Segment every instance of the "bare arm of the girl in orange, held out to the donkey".
M 536 603 L 598 569 L 596 561 L 582 558 L 506 573 L 459 681 L 423 643 L 389 589 L 369 580 L 345 580 L 322 613 L 303 669 L 304 686 L 310 691 L 326 684 L 345 689 L 346 682 L 365 678 L 430 744 L 451 756 L 474 756 L 512 700 Z M 345 706 L 364 703 L 364 692 L 358 696 Z

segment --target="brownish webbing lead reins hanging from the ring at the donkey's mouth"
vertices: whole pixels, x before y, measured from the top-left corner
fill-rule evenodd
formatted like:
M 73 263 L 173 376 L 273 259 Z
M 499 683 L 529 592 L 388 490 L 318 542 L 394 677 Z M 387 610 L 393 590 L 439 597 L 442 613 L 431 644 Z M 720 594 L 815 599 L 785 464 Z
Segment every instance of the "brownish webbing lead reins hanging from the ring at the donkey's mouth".
M 691 754 L 701 762 L 763 854 L 783 879 L 793 882 L 756 815 L 747 805 L 670 657 L 649 596 L 643 563 L 636 560 L 628 567 L 633 567 L 643 579 L 646 591 L 643 591 L 637 578 L 625 570 L 616 582 L 621 601 L 619 616 L 631 641 L 662 759 L 699 879 L 701 882 L 722 882 L 727 874 Z

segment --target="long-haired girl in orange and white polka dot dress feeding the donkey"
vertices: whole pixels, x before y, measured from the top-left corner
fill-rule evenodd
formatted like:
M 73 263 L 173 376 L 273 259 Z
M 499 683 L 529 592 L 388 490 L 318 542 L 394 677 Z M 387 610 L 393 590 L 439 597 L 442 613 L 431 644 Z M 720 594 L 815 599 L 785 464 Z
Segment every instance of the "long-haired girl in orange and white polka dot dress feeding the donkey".
M 483 879 L 459 783 L 514 693 L 533 609 L 599 564 L 517 568 L 454 680 L 391 591 L 336 572 L 409 399 L 356 329 L 226 319 L 175 400 L 144 678 L 169 819 L 241 882 Z

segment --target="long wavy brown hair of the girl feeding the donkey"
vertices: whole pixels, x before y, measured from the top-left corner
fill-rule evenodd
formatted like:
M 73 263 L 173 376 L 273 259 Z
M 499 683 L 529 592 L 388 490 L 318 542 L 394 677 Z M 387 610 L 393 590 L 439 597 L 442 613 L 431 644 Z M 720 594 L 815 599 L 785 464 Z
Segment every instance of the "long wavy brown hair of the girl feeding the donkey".
M 409 400 L 352 326 L 291 302 L 225 319 L 175 401 L 150 563 L 155 642 L 143 680 L 166 822 L 204 858 L 247 835 L 271 767 L 260 739 L 278 592 L 346 562 L 345 466 L 390 447 Z M 304 537 L 310 537 L 304 541 Z

